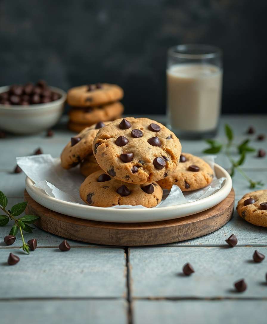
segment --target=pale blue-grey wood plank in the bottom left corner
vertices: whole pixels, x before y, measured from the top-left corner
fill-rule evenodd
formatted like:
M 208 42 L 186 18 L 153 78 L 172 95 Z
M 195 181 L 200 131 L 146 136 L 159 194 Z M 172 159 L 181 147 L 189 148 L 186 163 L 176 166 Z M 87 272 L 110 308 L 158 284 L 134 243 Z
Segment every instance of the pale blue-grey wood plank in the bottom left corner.
M 126 324 L 123 300 L 64 300 L 0 302 L 1 323 Z

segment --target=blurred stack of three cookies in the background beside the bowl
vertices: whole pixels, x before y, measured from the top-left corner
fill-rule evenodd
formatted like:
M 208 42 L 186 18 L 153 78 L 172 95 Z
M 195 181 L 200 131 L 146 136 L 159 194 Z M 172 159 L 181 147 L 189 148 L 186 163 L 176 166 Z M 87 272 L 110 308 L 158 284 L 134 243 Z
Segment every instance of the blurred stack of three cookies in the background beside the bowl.
M 123 105 L 123 90 L 115 84 L 97 83 L 69 89 L 67 95 L 69 128 L 80 132 L 100 121 L 113 121 L 120 118 Z

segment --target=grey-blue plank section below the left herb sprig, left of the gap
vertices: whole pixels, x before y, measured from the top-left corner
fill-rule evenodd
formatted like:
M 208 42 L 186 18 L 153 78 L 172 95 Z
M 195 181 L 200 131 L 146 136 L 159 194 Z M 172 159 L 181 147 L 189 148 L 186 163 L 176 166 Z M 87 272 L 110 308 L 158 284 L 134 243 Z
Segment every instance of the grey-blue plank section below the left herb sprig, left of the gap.
M 19 256 L 7 264 L 9 252 Z M 0 249 L 0 298 L 124 297 L 125 254 L 119 248 Z

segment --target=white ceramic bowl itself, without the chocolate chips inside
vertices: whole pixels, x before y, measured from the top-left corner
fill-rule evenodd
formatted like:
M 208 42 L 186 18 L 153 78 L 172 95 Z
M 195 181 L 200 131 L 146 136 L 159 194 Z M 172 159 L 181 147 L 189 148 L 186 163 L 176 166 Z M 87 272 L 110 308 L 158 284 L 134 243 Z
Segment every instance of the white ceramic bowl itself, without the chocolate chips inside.
M 15 134 L 38 133 L 54 126 L 60 119 L 66 92 L 55 87 L 49 87 L 59 93 L 61 98 L 48 103 L 37 105 L 1 105 L 0 129 Z M 0 93 L 8 91 L 9 86 L 0 87 Z

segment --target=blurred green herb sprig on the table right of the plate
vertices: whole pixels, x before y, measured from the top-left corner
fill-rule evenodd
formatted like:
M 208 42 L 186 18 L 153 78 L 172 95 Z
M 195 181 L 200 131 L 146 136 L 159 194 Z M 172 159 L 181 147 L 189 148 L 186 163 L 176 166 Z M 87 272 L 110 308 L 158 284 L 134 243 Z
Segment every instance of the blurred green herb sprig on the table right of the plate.
M 228 157 L 229 161 L 231 162 L 231 171 L 230 175 L 231 177 L 235 174 L 235 171 L 237 170 L 242 177 L 244 177 L 250 184 L 250 188 L 253 189 L 256 186 L 263 186 L 264 183 L 261 181 L 253 181 L 250 179 L 250 177 L 240 168 L 241 165 L 244 164 L 245 159 L 246 159 L 246 154 L 255 152 L 255 149 L 251 146 L 249 146 L 250 140 L 246 139 L 239 145 L 234 145 L 233 144 L 233 139 L 234 139 L 234 133 L 231 129 L 231 127 L 227 124 L 225 124 L 225 135 L 227 138 L 227 143 L 226 145 L 213 140 L 213 139 L 207 139 L 206 143 L 210 145 L 209 148 L 203 150 L 203 153 L 206 154 L 216 154 L 221 152 L 223 149 L 225 150 L 225 154 Z M 237 148 L 237 152 L 239 154 L 238 160 L 235 161 L 233 157 L 231 156 L 230 149 L 235 146 Z

